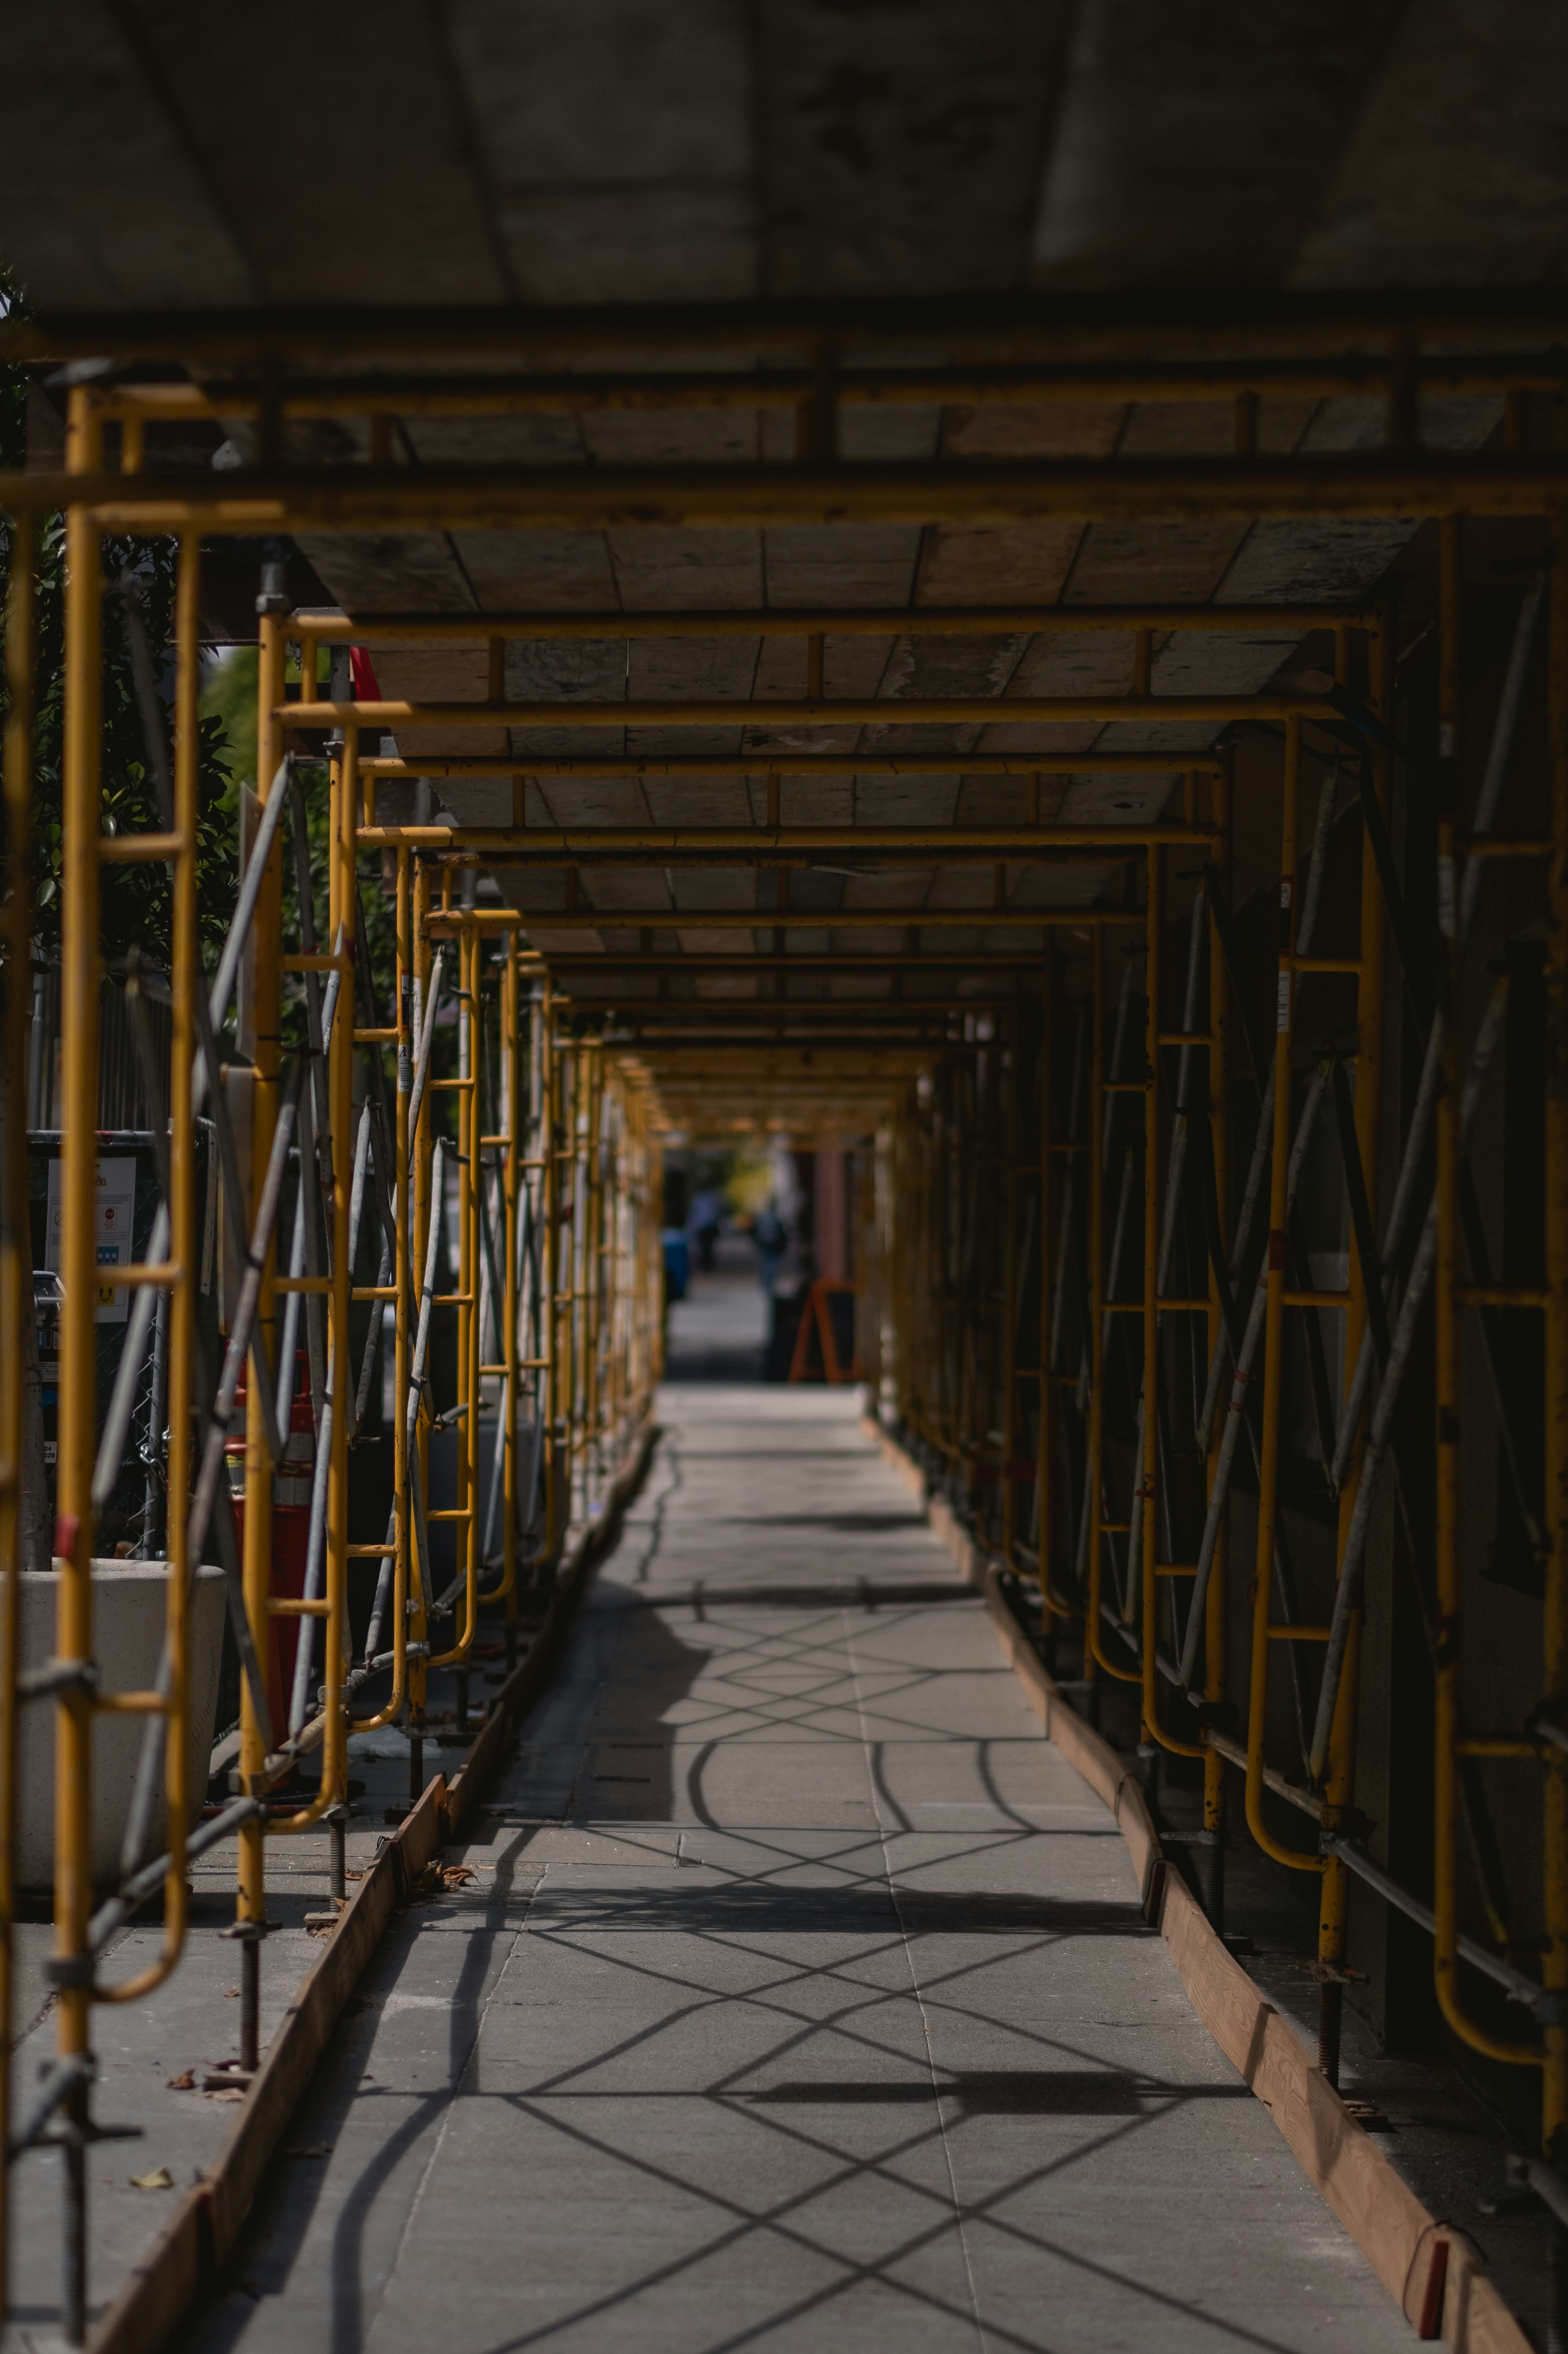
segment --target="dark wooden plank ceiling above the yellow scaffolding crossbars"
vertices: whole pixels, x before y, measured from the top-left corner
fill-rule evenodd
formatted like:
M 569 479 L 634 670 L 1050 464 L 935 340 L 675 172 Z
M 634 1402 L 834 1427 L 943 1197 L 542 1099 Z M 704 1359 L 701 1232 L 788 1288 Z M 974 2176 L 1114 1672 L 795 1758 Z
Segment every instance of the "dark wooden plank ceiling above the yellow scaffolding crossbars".
M 1439 308 L 1455 297 L 1460 327 L 1439 348 L 1457 351 L 1467 292 L 1519 290 L 1547 377 L 1561 344 L 1568 26 L 1526 0 L 1333 0 L 1307 16 L 1269 0 L 1241 16 L 1172 14 L 1154 0 L 692 0 L 673 12 L 647 0 L 469 0 L 348 7 L 304 59 L 290 42 L 259 42 L 242 12 L 198 19 L 179 0 L 64 0 L 14 26 L 7 45 L 0 242 L 38 318 L 66 341 L 75 332 L 71 348 L 92 320 L 106 348 L 134 348 L 139 322 L 160 318 L 167 360 L 181 348 L 170 320 L 184 315 L 191 370 L 214 386 L 254 386 L 264 360 L 273 388 L 323 372 L 407 384 L 407 410 L 374 428 L 379 443 L 363 414 L 283 424 L 271 454 L 308 468 L 372 454 L 403 468 L 565 478 L 789 468 L 810 424 L 772 398 L 431 414 L 438 398 L 419 398 L 417 384 L 438 393 L 461 374 L 483 391 L 506 374 L 570 379 L 591 367 L 610 379 L 805 367 L 810 379 L 824 358 L 852 372 L 869 348 L 885 365 L 939 370 L 961 313 L 965 348 L 991 363 L 1026 348 L 1050 365 L 1132 367 L 1234 353 L 1248 339 L 1288 358 L 1302 348 L 1290 320 L 1323 320 L 1321 306 L 1342 301 L 1340 344 L 1318 334 L 1311 348 L 1387 360 L 1382 290 L 1434 290 Z M 1205 339 L 1227 304 L 1241 325 Z M 892 341 L 890 306 L 904 306 Z M 426 325 L 374 330 L 374 313 L 421 313 Z M 815 341 L 793 332 L 808 315 L 819 320 Z M 217 320 L 224 355 L 202 358 Z M 542 341 L 551 320 L 553 346 Z M 572 320 L 593 322 L 593 351 L 574 348 Z M 986 322 L 989 344 L 977 341 Z M 629 341 L 636 332 L 643 344 Z M 845 403 L 833 452 L 932 471 L 1224 459 L 1234 400 L 1198 391 Z M 1257 403 L 1255 447 L 1276 459 L 1363 457 L 1382 447 L 1384 419 L 1382 379 L 1330 393 L 1283 384 Z M 1439 388 L 1417 421 L 1427 452 L 1479 452 L 1497 440 L 1502 400 Z M 268 454 L 254 400 L 235 400 L 221 431 L 240 459 Z M 160 459 L 153 428 L 148 466 L 160 464 L 177 452 L 170 438 Z M 810 852 L 786 878 L 652 850 L 624 864 L 584 857 L 572 873 L 487 852 L 501 892 L 537 918 L 539 946 L 570 951 L 567 986 L 605 1008 L 659 991 L 697 1005 L 718 986 L 751 1000 L 831 998 L 833 982 L 848 998 L 878 993 L 885 984 L 855 965 L 866 951 L 972 953 L 968 975 L 932 965 L 925 982 L 946 996 L 984 993 L 1001 960 L 1029 970 L 1045 935 L 1017 913 L 1092 906 L 1116 887 L 1114 855 L 1024 847 L 998 885 L 972 859 L 857 852 L 852 829 L 1156 822 L 1172 796 L 1180 803 L 1182 758 L 1210 751 L 1217 734 L 1161 716 L 1158 697 L 1253 697 L 1288 676 L 1302 631 L 1278 607 L 1366 600 L 1410 532 L 1401 516 L 1043 516 L 304 532 L 301 544 L 363 626 L 388 699 L 485 701 L 499 685 L 532 706 L 704 706 L 702 723 L 671 713 L 659 727 L 400 727 L 396 751 L 412 770 L 501 770 L 436 774 L 431 814 L 579 833 L 760 829 L 772 791 L 779 824 L 848 829 L 841 859 Z M 1111 723 L 1008 706 L 1125 694 L 1130 636 L 1005 619 L 994 631 L 899 626 L 899 614 L 913 624 L 930 607 L 1130 603 L 1236 605 L 1248 617 L 1229 631 L 1158 631 L 1149 716 Z M 1253 621 L 1260 607 L 1274 610 Z M 779 610 L 866 610 L 888 626 L 829 624 L 817 657 L 765 619 L 678 638 L 614 629 L 617 612 Z M 393 645 L 374 629 L 393 612 L 473 617 L 476 633 Z M 607 619 L 603 636 L 509 638 L 497 680 L 485 619 L 527 612 Z M 713 716 L 798 701 L 812 685 L 829 701 L 885 701 L 888 718 L 758 730 Z M 902 701 L 951 699 L 991 699 L 996 713 L 899 720 Z M 1052 763 L 1038 784 L 1031 756 Z M 1074 758 L 1085 765 L 1074 770 Z M 1161 758 L 1170 765 L 1151 767 Z M 680 772 L 680 760 L 704 765 Z M 1008 763 L 1015 774 L 998 772 Z M 384 819 L 417 807 L 412 784 L 381 784 Z M 998 890 L 1010 923 L 984 925 Z M 975 923 L 954 932 L 965 909 Z M 551 927 L 567 911 L 574 925 Z M 702 925 L 650 935 L 685 911 Z M 725 913 L 735 925 L 716 927 Z M 819 925 L 803 930 L 808 916 Z M 864 930 L 876 916 L 885 932 Z M 598 923 L 584 930 L 586 918 Z M 685 951 L 758 963 L 723 984 L 659 970 Z M 841 972 L 791 975 L 779 967 L 786 951 L 841 958 Z

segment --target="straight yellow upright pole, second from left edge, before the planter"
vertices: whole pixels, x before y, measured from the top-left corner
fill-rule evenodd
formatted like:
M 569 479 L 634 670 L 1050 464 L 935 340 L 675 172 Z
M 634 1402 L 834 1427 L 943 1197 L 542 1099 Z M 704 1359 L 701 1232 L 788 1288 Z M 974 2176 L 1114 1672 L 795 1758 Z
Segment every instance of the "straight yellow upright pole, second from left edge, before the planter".
M 66 466 L 92 473 L 104 424 L 92 391 L 71 391 Z M 92 1660 L 92 1455 L 97 1438 L 97 1128 L 99 1128 L 99 763 L 104 727 L 101 534 L 82 508 L 66 516 L 66 744 L 61 810 L 61 1311 L 54 1561 L 59 1603 L 54 1655 Z M 92 1907 L 92 1697 L 75 1683 L 54 1704 L 54 1954 L 61 2057 L 89 2048 L 87 1916 Z M 68 2152 L 78 2177 L 80 2149 Z M 78 2182 L 78 2201 L 85 2180 Z M 80 2229 L 80 2225 L 78 2225 Z M 82 2248 L 85 2253 L 85 2248 Z M 66 2338 L 75 2250 L 66 2253 Z M 78 2283 L 80 2293 L 80 2283 Z

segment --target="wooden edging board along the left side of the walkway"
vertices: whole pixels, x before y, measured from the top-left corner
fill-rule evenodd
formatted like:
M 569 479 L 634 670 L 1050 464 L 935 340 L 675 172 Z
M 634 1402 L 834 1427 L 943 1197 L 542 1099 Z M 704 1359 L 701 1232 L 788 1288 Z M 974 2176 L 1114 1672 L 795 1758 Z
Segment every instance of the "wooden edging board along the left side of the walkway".
M 167 2342 L 200 2290 L 233 2253 L 261 2175 L 315 2074 L 344 2003 L 365 1973 L 393 1911 L 407 1900 L 431 1857 L 461 1831 L 506 1754 L 511 1728 L 549 1683 L 589 1570 L 614 1544 L 622 1511 L 647 1474 L 657 1438 L 659 1429 L 650 1417 L 626 1452 L 605 1509 L 582 1530 L 565 1556 L 544 1627 L 530 1643 L 527 1657 L 494 1693 L 461 1768 L 452 1782 L 436 1775 L 426 1784 L 419 1806 L 398 1824 L 367 1869 L 320 1961 L 299 1982 L 217 2166 L 195 2189 L 186 2192 L 172 2222 L 129 2274 L 92 2333 L 89 2354 L 158 2354 L 158 2347 Z

